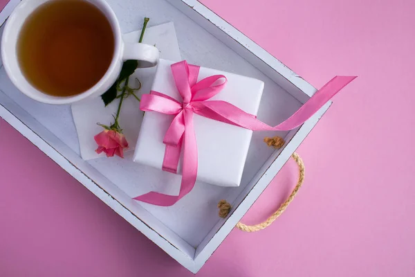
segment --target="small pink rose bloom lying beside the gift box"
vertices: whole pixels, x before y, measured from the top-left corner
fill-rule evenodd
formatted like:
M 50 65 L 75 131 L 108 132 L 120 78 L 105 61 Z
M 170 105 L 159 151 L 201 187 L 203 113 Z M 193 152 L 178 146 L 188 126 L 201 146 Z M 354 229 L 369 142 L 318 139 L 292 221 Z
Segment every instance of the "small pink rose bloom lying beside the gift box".
M 123 134 L 114 130 L 104 129 L 100 134 L 94 136 L 93 139 L 98 144 L 98 148 L 95 150 L 98 154 L 104 152 L 107 154 L 107 157 L 113 157 L 116 154 L 124 158 L 123 150 L 128 148 L 128 142 Z

